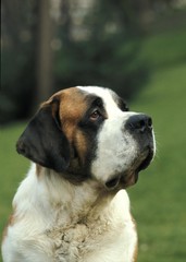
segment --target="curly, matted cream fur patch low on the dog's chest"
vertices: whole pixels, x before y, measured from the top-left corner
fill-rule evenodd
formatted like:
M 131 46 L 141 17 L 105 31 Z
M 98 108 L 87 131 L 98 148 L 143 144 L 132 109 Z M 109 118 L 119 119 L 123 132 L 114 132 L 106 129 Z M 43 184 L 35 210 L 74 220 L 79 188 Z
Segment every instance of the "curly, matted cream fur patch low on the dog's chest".
M 100 243 L 107 238 L 111 229 L 110 223 L 86 224 L 79 223 L 66 228 L 53 228 L 47 233 L 52 242 L 55 262 L 87 261 L 89 254 L 96 253 Z M 91 261 L 91 260 L 90 260 Z

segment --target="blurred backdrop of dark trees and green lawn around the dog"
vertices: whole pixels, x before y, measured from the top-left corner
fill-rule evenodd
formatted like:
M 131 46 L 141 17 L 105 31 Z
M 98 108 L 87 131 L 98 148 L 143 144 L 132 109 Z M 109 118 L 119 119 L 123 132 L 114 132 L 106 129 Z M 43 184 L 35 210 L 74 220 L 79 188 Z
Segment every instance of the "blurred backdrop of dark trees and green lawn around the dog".
M 128 189 L 138 261 L 186 261 L 186 0 L 1 1 L 0 230 L 29 166 L 18 135 L 75 85 L 108 86 L 152 116 L 157 157 Z

